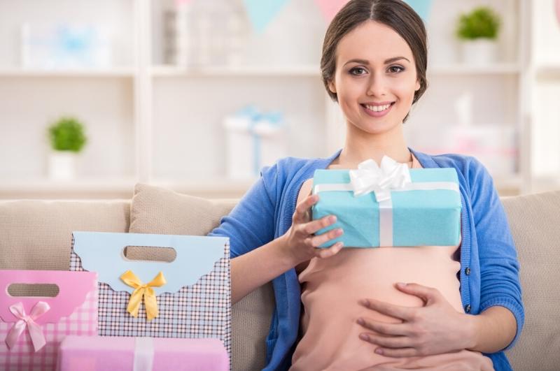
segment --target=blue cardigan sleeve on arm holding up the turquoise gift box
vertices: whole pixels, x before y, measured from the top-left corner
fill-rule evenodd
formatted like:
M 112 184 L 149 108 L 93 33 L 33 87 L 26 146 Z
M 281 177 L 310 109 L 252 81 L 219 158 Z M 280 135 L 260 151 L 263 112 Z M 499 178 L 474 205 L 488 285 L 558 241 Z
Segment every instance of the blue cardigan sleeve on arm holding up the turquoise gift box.
M 230 238 L 232 259 L 273 240 L 277 177 L 276 164 L 262 168 L 253 187 L 221 219 L 220 225 L 208 233 Z

